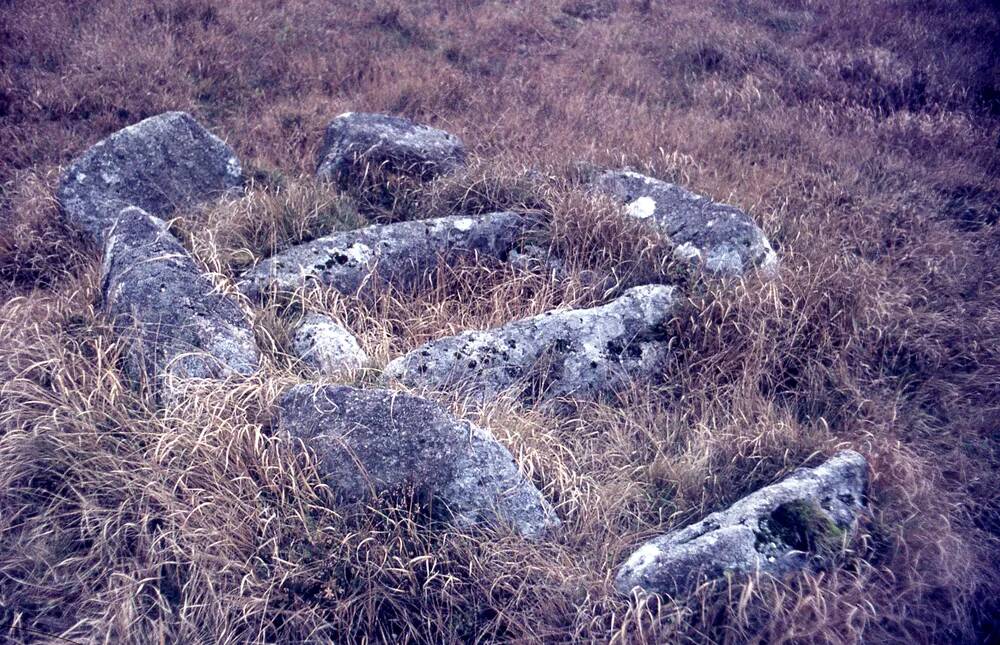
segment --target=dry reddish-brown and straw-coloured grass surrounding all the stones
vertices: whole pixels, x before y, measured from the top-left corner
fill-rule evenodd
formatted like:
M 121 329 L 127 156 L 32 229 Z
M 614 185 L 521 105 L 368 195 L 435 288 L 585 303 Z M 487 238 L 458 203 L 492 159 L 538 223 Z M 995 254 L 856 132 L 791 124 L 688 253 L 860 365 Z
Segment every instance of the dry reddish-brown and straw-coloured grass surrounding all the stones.
M 998 590 L 1000 25 L 989 3 L 5 3 L 0 22 L 0 626 L 75 640 L 984 638 Z M 858 5 L 863 6 L 858 6 Z M 576 9 L 574 9 L 576 8 Z M 582 15 L 582 14 L 581 14 Z M 992 47 L 992 49 L 991 49 Z M 303 306 L 379 362 L 428 338 L 605 295 L 495 266 L 416 297 L 301 294 L 254 312 L 268 365 L 156 411 L 114 364 L 95 254 L 58 222 L 60 164 L 167 109 L 251 168 L 174 226 L 220 285 L 365 219 L 520 206 L 574 272 L 672 275 L 571 181 L 629 164 L 748 209 L 784 274 L 686 285 L 667 387 L 574 418 L 498 402 L 489 426 L 558 503 L 526 545 L 428 527 L 407 500 L 334 512 L 270 435 L 302 378 Z M 477 160 L 396 201 L 310 178 L 344 110 L 445 127 Z M 554 178 L 525 176 L 541 168 Z M 639 540 L 854 446 L 872 516 L 831 571 L 627 602 Z

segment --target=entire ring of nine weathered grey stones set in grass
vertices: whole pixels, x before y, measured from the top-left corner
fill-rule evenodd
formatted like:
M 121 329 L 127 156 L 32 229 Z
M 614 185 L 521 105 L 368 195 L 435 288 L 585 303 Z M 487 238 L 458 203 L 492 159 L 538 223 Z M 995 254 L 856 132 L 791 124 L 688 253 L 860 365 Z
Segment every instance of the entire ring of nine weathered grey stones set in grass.
M 465 160 L 462 141 L 443 130 L 347 113 L 327 128 L 316 174 L 342 188 L 386 172 L 426 181 L 461 170 Z M 178 379 L 255 374 L 262 358 L 253 304 L 281 292 L 319 288 L 366 298 L 386 285 L 420 289 L 440 262 L 490 257 L 527 266 L 547 256 L 527 240 L 542 223 L 525 214 L 455 215 L 332 233 L 263 260 L 233 289 L 199 266 L 164 218 L 238 191 L 242 179 L 233 150 L 183 112 L 108 136 L 62 175 L 64 216 L 103 247 L 102 306 L 125 339 L 124 372 L 158 399 Z M 629 170 L 602 171 L 589 185 L 709 274 L 777 266 L 767 237 L 738 208 Z M 558 268 L 558 259 L 546 262 L 547 270 Z M 612 394 L 662 373 L 671 354 L 667 323 L 682 300 L 676 286 L 645 285 L 596 307 L 432 340 L 391 360 L 381 387 L 336 383 L 374 366 L 337 320 L 307 313 L 290 330 L 291 351 L 313 380 L 285 391 L 277 431 L 315 456 L 339 503 L 407 492 L 461 528 L 506 526 L 528 540 L 556 539 L 558 506 L 510 450 L 419 391 L 479 403 L 507 394 L 528 405 Z M 851 539 L 866 483 L 865 458 L 837 453 L 642 544 L 614 586 L 622 594 L 676 596 L 730 574 L 780 577 L 819 566 Z

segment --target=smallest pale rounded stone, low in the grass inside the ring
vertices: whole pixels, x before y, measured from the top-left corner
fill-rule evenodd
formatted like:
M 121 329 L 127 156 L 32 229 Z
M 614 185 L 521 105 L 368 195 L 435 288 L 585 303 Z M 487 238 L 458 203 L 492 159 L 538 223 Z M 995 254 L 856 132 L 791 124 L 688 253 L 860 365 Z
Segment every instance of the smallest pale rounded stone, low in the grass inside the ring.
M 292 351 L 310 368 L 330 378 L 350 377 L 368 364 L 358 339 L 323 314 L 309 314 L 296 325 Z

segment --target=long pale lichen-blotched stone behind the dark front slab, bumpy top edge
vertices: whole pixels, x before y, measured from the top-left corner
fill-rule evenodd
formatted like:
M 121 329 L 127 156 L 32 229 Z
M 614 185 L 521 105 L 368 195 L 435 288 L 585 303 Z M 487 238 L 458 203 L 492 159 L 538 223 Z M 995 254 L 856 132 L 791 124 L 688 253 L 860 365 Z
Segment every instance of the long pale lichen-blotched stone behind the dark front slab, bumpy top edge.
M 635 287 L 600 307 L 431 341 L 390 362 L 383 378 L 478 401 L 513 387 L 526 400 L 593 398 L 662 367 L 678 304 L 674 287 Z

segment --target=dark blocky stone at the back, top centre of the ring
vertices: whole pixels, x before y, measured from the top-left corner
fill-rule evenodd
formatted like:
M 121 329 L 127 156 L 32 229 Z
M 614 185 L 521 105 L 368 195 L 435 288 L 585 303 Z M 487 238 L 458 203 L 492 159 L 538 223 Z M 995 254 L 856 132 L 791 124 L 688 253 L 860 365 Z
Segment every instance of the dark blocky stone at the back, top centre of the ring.
M 376 168 L 431 179 L 464 162 L 462 141 L 444 130 L 398 116 L 347 112 L 326 128 L 316 175 L 341 185 Z

